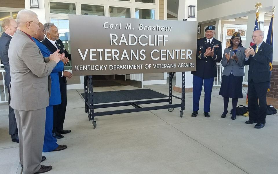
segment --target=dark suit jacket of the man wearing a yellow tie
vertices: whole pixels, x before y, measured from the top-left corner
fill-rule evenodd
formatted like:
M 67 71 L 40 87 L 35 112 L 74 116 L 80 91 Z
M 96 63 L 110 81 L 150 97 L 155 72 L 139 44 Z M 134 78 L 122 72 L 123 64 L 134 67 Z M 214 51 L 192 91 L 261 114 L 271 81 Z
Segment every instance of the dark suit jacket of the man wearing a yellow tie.
M 256 45 L 253 45 L 252 48 L 256 50 Z M 250 55 L 248 61 L 244 59 L 244 64 L 250 65 L 248 82 L 250 82 L 251 79 L 253 79 L 255 83 L 270 81 L 269 62 L 272 54 L 273 47 L 263 42 L 254 57 Z

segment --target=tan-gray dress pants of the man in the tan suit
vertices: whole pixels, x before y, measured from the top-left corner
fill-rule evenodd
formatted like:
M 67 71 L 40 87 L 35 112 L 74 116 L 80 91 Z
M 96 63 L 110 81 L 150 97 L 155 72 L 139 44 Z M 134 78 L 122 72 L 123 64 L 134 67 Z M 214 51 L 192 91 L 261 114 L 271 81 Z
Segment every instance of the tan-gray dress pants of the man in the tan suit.
M 19 135 L 19 160 L 22 174 L 33 174 L 41 168 L 46 108 L 21 111 L 14 109 Z

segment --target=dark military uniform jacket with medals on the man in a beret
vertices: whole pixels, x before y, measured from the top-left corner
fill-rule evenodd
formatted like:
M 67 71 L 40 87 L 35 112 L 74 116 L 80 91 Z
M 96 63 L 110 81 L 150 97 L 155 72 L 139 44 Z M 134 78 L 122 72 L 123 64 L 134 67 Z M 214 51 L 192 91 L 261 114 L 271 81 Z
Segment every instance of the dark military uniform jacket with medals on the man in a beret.
M 208 47 L 214 47 L 214 56 L 204 57 L 204 53 Z M 196 56 L 196 71 L 191 72 L 195 76 L 201 78 L 213 78 L 217 76 L 216 62 L 222 60 L 221 42 L 212 39 L 211 45 L 207 44 L 206 37 L 197 40 L 197 56 Z

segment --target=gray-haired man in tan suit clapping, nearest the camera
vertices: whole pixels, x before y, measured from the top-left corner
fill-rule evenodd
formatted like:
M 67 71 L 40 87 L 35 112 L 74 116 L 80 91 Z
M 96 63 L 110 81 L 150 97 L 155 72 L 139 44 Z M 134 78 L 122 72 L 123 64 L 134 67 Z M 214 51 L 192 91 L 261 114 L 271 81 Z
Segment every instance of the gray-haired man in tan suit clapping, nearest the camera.
M 32 39 L 40 25 L 36 13 L 19 11 L 17 24 L 17 32 L 10 41 L 9 60 L 10 106 L 14 108 L 19 132 L 19 160 L 23 174 L 44 173 L 52 169 L 40 164 L 50 97 L 49 75 L 63 55 L 54 52 L 43 58 Z

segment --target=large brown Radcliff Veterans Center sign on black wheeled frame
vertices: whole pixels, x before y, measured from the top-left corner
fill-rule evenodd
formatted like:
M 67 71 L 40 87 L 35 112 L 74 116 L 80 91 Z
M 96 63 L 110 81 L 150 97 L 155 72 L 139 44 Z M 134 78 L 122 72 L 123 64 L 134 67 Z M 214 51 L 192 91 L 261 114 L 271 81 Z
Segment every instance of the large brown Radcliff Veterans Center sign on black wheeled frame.
M 195 71 L 196 21 L 69 15 L 73 75 Z

